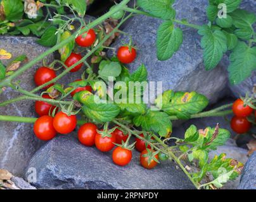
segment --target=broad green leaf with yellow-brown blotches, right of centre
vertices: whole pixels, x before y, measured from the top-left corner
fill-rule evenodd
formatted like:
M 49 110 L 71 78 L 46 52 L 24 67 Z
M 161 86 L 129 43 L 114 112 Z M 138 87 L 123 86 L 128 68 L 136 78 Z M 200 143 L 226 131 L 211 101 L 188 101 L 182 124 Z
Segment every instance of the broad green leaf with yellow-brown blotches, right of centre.
M 176 92 L 169 104 L 163 107 L 163 111 L 170 116 L 179 119 L 189 119 L 192 114 L 202 112 L 208 105 L 208 99 L 196 92 Z

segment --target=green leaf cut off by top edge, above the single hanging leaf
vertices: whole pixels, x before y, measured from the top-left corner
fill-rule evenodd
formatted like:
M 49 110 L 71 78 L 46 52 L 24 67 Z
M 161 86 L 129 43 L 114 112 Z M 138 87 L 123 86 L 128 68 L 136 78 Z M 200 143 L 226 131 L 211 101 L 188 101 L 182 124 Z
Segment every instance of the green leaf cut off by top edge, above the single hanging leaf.
M 137 3 L 144 11 L 163 20 L 174 19 L 176 16 L 172 0 L 138 0 Z

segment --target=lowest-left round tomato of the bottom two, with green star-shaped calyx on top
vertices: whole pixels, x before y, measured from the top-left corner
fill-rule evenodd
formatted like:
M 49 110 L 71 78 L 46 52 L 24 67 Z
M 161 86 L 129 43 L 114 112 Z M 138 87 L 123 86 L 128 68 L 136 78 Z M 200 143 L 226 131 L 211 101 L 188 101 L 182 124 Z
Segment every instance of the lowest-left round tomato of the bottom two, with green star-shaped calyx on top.
M 118 146 L 113 150 L 112 159 L 115 164 L 125 166 L 132 160 L 132 151 Z

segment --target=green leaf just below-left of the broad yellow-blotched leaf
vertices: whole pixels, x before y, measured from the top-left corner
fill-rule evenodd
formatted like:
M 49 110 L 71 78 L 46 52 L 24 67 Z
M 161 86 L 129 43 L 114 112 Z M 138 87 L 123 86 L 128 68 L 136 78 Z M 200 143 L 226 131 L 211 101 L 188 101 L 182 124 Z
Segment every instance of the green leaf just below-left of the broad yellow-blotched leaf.
M 172 133 L 172 122 L 165 112 L 149 110 L 145 115 L 134 117 L 133 122 L 144 131 L 153 131 L 162 137 L 168 137 Z

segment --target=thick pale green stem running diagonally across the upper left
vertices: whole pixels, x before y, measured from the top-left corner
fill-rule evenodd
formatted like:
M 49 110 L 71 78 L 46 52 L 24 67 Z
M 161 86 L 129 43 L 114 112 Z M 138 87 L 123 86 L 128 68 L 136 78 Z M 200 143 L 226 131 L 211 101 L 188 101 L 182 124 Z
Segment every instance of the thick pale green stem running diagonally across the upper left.
M 100 23 L 105 21 L 107 18 L 110 18 L 110 16 L 112 16 L 114 13 L 116 13 L 120 9 L 123 9 L 125 7 L 125 5 L 127 3 L 129 3 L 129 1 L 130 0 L 123 0 L 120 4 L 117 4 L 117 6 L 115 8 L 113 8 L 111 11 L 108 11 L 108 13 L 106 13 L 105 15 L 100 16 L 98 19 L 94 20 L 93 22 L 89 23 L 86 27 L 82 28 L 82 30 L 73 33 L 70 37 L 68 37 L 67 39 L 65 39 L 62 42 L 60 42 L 60 44 L 54 45 L 54 47 L 52 47 L 51 49 L 46 50 L 46 52 L 42 53 L 40 56 L 36 57 L 35 59 L 30 61 L 29 63 L 27 63 L 24 66 L 22 66 L 21 68 L 19 68 L 17 71 L 15 71 L 15 73 L 11 74 L 11 76 L 8 76 L 7 78 L 5 78 L 3 81 L 0 82 L 0 88 L 2 88 L 3 86 L 9 86 L 11 81 L 14 78 L 16 78 L 17 76 L 22 74 L 24 71 L 26 71 L 27 69 L 31 68 L 35 64 L 37 64 L 37 62 L 39 62 L 42 59 L 44 59 L 44 57 L 46 57 L 49 54 L 51 54 L 52 52 L 60 49 L 64 45 L 68 44 L 68 42 L 71 42 L 72 40 L 74 40 L 76 35 L 77 35 L 77 33 L 79 34 L 79 33 L 87 32 L 89 29 L 91 29 L 93 27 L 96 27 L 97 25 L 99 25 Z

